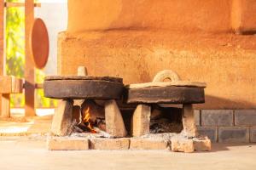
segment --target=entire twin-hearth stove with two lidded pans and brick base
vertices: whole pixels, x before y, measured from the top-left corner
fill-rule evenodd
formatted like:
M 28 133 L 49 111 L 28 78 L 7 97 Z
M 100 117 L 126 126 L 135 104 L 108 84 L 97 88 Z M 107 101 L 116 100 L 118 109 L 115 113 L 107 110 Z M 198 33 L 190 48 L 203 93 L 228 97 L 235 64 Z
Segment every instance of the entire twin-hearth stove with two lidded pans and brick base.
M 60 99 L 49 150 L 211 150 L 192 105 L 205 102 L 206 83 L 181 81 L 171 70 L 126 86 L 122 78 L 86 73 L 80 66 L 78 76 L 44 79 L 44 96 Z

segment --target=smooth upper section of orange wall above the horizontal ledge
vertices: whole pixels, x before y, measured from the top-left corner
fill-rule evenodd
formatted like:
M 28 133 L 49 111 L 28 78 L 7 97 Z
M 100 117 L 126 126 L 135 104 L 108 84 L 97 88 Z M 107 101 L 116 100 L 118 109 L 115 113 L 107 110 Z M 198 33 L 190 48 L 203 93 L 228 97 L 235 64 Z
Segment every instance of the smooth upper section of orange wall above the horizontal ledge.
M 230 31 L 231 4 L 231 0 L 69 0 L 67 31 Z

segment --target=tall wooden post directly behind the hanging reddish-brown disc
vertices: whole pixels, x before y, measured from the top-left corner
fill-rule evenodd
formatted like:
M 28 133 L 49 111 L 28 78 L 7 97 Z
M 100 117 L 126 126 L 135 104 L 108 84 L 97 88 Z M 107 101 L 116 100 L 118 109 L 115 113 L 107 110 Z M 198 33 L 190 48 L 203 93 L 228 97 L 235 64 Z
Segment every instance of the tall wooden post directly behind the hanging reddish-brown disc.
M 25 115 L 35 116 L 35 69 L 29 47 L 29 35 L 34 21 L 34 0 L 25 1 Z

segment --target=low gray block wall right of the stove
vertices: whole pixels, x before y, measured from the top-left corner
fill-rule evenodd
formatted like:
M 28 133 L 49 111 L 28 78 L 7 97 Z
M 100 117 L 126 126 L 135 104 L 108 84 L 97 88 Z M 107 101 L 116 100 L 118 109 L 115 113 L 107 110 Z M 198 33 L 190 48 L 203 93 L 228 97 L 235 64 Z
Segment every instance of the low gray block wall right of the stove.
M 256 110 L 197 110 L 195 122 L 212 142 L 256 142 Z

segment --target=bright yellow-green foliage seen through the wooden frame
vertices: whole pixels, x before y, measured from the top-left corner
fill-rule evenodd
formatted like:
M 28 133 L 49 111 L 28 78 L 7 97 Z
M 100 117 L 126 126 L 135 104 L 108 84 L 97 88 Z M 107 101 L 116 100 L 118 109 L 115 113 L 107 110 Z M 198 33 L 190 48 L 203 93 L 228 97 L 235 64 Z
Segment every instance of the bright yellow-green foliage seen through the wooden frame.
M 24 2 L 24 0 L 7 0 L 7 2 Z M 25 68 L 25 10 L 24 8 L 7 8 L 6 10 L 6 73 L 15 77 L 24 77 Z M 36 70 L 36 82 L 44 82 L 44 72 Z M 24 94 L 12 94 L 11 106 L 25 105 Z M 42 89 L 36 90 L 37 107 L 55 107 L 56 101 L 44 98 Z

